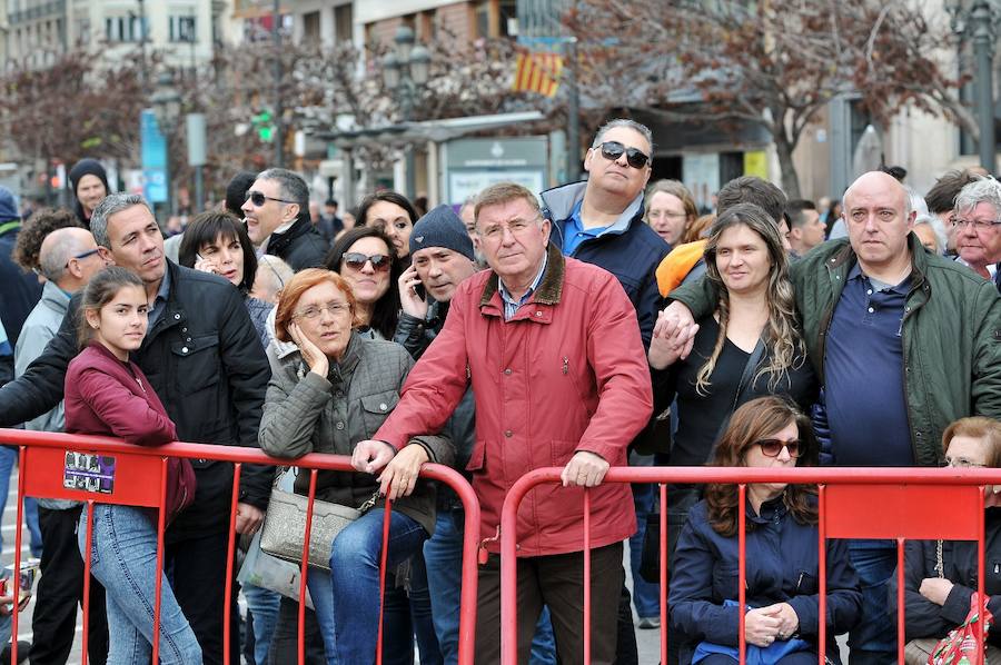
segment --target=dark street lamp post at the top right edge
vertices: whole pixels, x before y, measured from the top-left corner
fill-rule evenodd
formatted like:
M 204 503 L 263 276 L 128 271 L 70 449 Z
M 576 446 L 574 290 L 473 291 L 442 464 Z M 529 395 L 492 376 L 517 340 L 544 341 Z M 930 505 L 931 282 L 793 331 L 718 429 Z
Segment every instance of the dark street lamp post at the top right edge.
M 973 0 L 967 8 L 963 0 L 947 0 L 952 16 L 952 29 L 962 39 L 969 36 L 977 61 L 977 126 L 980 129 L 980 166 L 993 173 L 997 169 L 994 135 L 994 11 L 989 0 Z

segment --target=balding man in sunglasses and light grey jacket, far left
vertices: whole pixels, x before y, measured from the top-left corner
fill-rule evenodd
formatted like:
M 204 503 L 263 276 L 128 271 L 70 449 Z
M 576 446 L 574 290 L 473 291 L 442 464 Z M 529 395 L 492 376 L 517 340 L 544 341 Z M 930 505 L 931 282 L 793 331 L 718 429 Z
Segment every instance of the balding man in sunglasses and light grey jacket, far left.
M 41 211 L 39 215 L 50 212 Z M 39 220 L 42 224 L 42 220 Z M 90 277 L 105 267 L 93 236 L 85 228 L 56 229 L 44 237 L 38 252 L 39 272 L 46 278 L 41 300 L 28 315 L 14 348 L 14 373 L 24 374 L 42 354 L 69 309 L 73 294 L 87 286 Z M 50 411 L 24 423 L 34 431 L 62 431 L 62 403 Z M 7 497 L 16 449 L 0 449 L 0 497 Z M 2 510 L 0 499 L 0 510 Z M 33 500 L 33 499 L 29 499 Z M 26 506 L 27 506 L 26 500 Z M 77 605 L 83 599 L 83 559 L 77 545 L 77 523 L 82 505 L 78 502 L 38 499 L 38 526 L 44 540 L 34 614 L 31 617 L 36 663 L 66 663 L 73 645 Z M 32 533 L 32 539 L 33 539 Z M 32 543 L 33 544 L 33 543 Z M 105 615 L 105 589 L 90 579 L 90 659 L 102 663 L 108 656 L 108 621 Z M 20 653 L 20 652 L 19 652 Z

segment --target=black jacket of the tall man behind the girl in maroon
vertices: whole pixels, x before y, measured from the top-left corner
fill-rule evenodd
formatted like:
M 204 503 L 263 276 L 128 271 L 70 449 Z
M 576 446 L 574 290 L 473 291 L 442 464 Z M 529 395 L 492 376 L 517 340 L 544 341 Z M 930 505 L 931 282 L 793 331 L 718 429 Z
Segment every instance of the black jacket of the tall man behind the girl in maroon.
M 215 275 L 167 261 L 167 307 L 133 354 L 182 441 L 257 448 L 270 369 L 239 291 Z M 66 368 L 77 355 L 79 294 L 59 332 L 16 380 L 0 388 L 0 426 L 38 417 L 62 399 Z M 225 532 L 232 466 L 192 460 L 195 503 L 168 530 L 168 540 Z M 266 508 L 272 467 L 244 465 L 240 502 Z

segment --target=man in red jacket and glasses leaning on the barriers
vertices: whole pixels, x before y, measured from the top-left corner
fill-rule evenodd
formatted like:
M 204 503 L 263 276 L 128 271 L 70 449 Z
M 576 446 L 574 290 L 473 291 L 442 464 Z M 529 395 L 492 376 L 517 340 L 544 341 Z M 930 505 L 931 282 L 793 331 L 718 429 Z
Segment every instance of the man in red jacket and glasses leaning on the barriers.
M 615 658 L 622 540 L 636 530 L 630 487 L 602 485 L 653 410 L 636 312 L 618 280 L 549 245 L 551 221 L 518 185 L 484 190 L 476 231 L 490 270 L 456 289 L 445 327 L 414 367 L 393 415 L 358 444 L 356 468 L 381 468 L 417 434 L 439 431 L 466 391 L 476 400 L 468 466 L 480 537 L 498 533 L 507 490 L 528 472 L 563 466 L 563 487 L 541 486 L 518 513 L 518 661 L 549 607 L 564 663 L 583 661 L 583 488 L 592 509 L 592 663 Z M 468 374 L 467 374 L 468 371 Z M 496 540 L 479 573 L 476 662 L 500 652 Z M 602 601 L 597 601 L 602 599 Z

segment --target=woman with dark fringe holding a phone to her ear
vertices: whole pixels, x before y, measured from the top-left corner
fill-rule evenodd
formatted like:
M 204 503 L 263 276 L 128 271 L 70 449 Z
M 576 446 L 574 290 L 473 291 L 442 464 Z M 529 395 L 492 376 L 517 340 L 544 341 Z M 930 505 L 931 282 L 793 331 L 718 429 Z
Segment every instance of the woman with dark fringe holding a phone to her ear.
M 266 321 L 274 306 L 249 295 L 257 275 L 257 255 L 239 219 L 219 210 L 209 210 L 196 217 L 185 229 L 178 262 L 218 275 L 237 287 L 244 296 L 244 305 L 260 344 L 267 348 L 270 335 Z

